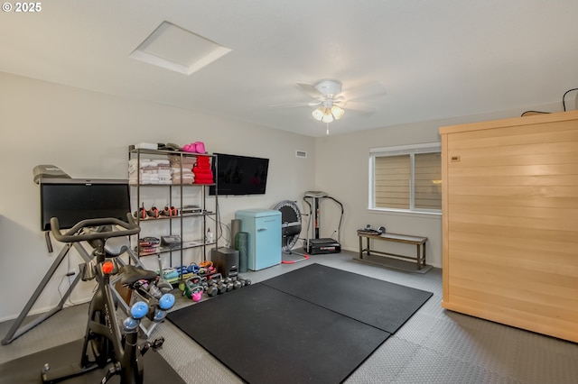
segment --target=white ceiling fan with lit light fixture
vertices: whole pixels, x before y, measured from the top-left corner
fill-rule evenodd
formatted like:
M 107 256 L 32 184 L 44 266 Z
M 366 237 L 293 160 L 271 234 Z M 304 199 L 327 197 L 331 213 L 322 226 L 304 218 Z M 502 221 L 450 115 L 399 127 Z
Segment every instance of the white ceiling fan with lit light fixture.
M 345 110 L 371 114 L 376 111 L 372 105 L 359 103 L 357 100 L 372 96 L 381 96 L 386 93 L 385 87 L 378 82 L 369 83 L 368 85 L 343 91 L 341 82 L 334 79 L 322 79 L 315 84 L 297 83 L 297 86 L 312 101 L 306 103 L 292 103 L 282 105 L 270 105 L 272 107 L 287 106 L 315 106 L 312 116 L 315 120 L 323 123 L 331 123 L 333 120 L 339 120 Z

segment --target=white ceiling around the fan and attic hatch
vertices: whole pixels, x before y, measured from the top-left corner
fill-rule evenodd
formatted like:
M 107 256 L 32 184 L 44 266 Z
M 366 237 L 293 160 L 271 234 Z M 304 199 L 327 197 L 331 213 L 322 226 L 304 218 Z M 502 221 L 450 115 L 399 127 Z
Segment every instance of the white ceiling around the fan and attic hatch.
M 576 0 L 41 4 L 0 14 L 0 71 L 310 136 L 325 134 L 312 107 L 269 105 L 310 101 L 295 84 L 322 78 L 386 90 L 365 100 L 376 113 L 347 111 L 331 134 L 562 101 L 578 87 Z M 191 75 L 129 58 L 163 21 L 231 51 Z

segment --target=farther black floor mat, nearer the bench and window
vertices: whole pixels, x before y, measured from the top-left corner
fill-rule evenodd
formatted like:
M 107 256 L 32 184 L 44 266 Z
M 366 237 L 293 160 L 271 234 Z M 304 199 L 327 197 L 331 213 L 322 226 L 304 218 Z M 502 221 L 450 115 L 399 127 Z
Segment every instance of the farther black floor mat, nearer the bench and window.
M 262 284 L 346 315 L 389 334 L 433 296 L 421 289 L 311 264 Z

